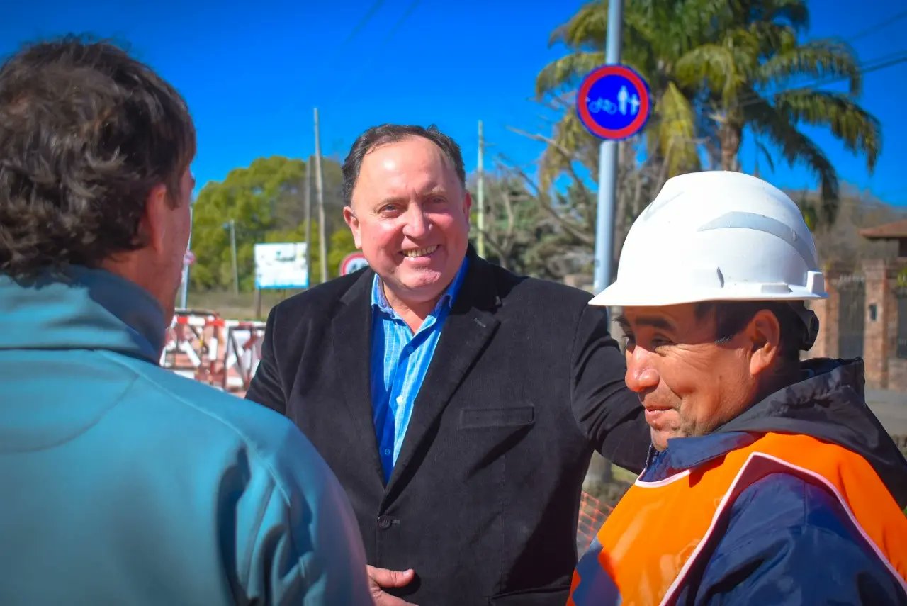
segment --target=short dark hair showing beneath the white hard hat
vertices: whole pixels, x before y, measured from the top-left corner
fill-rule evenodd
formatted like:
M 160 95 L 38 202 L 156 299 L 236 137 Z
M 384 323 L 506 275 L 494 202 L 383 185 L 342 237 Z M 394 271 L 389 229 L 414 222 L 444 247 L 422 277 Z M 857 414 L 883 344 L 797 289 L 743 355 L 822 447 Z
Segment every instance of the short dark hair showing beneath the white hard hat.
M 694 313 L 697 320 L 713 315 L 716 342 L 727 343 L 760 310 L 770 311 L 781 327 L 781 358 L 786 366 L 791 366 L 800 361 L 800 350 L 804 348 L 807 331 L 795 306 L 804 307 L 801 301 L 705 301 L 696 304 Z

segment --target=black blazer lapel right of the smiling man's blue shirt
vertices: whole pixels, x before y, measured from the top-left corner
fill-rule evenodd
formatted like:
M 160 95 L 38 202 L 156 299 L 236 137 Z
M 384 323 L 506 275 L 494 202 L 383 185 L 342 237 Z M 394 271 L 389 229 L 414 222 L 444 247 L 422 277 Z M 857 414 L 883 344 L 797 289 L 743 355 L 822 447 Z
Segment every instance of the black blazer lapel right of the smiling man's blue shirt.
M 415 398 L 413 415 L 385 495 L 405 473 L 419 445 L 500 324 L 493 316 L 500 299 L 487 262 L 471 255 L 469 263 L 463 286 L 444 322 L 432 362 Z

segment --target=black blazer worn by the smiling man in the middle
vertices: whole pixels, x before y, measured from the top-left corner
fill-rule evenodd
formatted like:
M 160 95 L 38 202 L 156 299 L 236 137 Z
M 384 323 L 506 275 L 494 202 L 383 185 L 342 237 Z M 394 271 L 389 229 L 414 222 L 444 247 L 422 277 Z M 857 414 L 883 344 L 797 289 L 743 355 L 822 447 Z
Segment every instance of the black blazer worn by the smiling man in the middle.
M 368 562 L 415 570 L 396 595 L 420 606 L 560 606 L 593 448 L 639 471 L 649 446 L 605 310 L 471 251 L 385 485 L 369 391 L 374 275 L 362 269 L 272 309 L 249 399 L 295 421 L 327 460 Z

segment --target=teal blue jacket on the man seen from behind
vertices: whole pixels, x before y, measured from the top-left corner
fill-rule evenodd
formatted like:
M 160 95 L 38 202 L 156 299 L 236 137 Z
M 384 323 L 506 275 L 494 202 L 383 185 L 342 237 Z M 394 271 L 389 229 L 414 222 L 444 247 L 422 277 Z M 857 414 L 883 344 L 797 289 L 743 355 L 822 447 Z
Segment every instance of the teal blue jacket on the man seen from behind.
M 142 288 L 69 275 L 0 275 L 0 604 L 371 604 L 296 426 L 158 367 Z

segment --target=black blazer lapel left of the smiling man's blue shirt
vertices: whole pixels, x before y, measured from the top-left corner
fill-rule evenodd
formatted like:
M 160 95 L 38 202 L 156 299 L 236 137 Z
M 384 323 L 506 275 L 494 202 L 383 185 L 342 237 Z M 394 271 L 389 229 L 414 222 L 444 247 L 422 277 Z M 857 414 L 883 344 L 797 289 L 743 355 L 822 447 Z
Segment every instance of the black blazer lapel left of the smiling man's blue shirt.
M 340 299 L 341 308 L 331 322 L 331 337 L 336 382 L 342 387 L 346 412 L 359 435 L 358 444 L 365 449 L 364 463 L 384 482 L 375 422 L 372 418 L 371 288 L 375 273 L 367 270 Z M 350 445 L 356 448 L 356 445 Z M 360 449 L 361 450 L 361 449 Z

